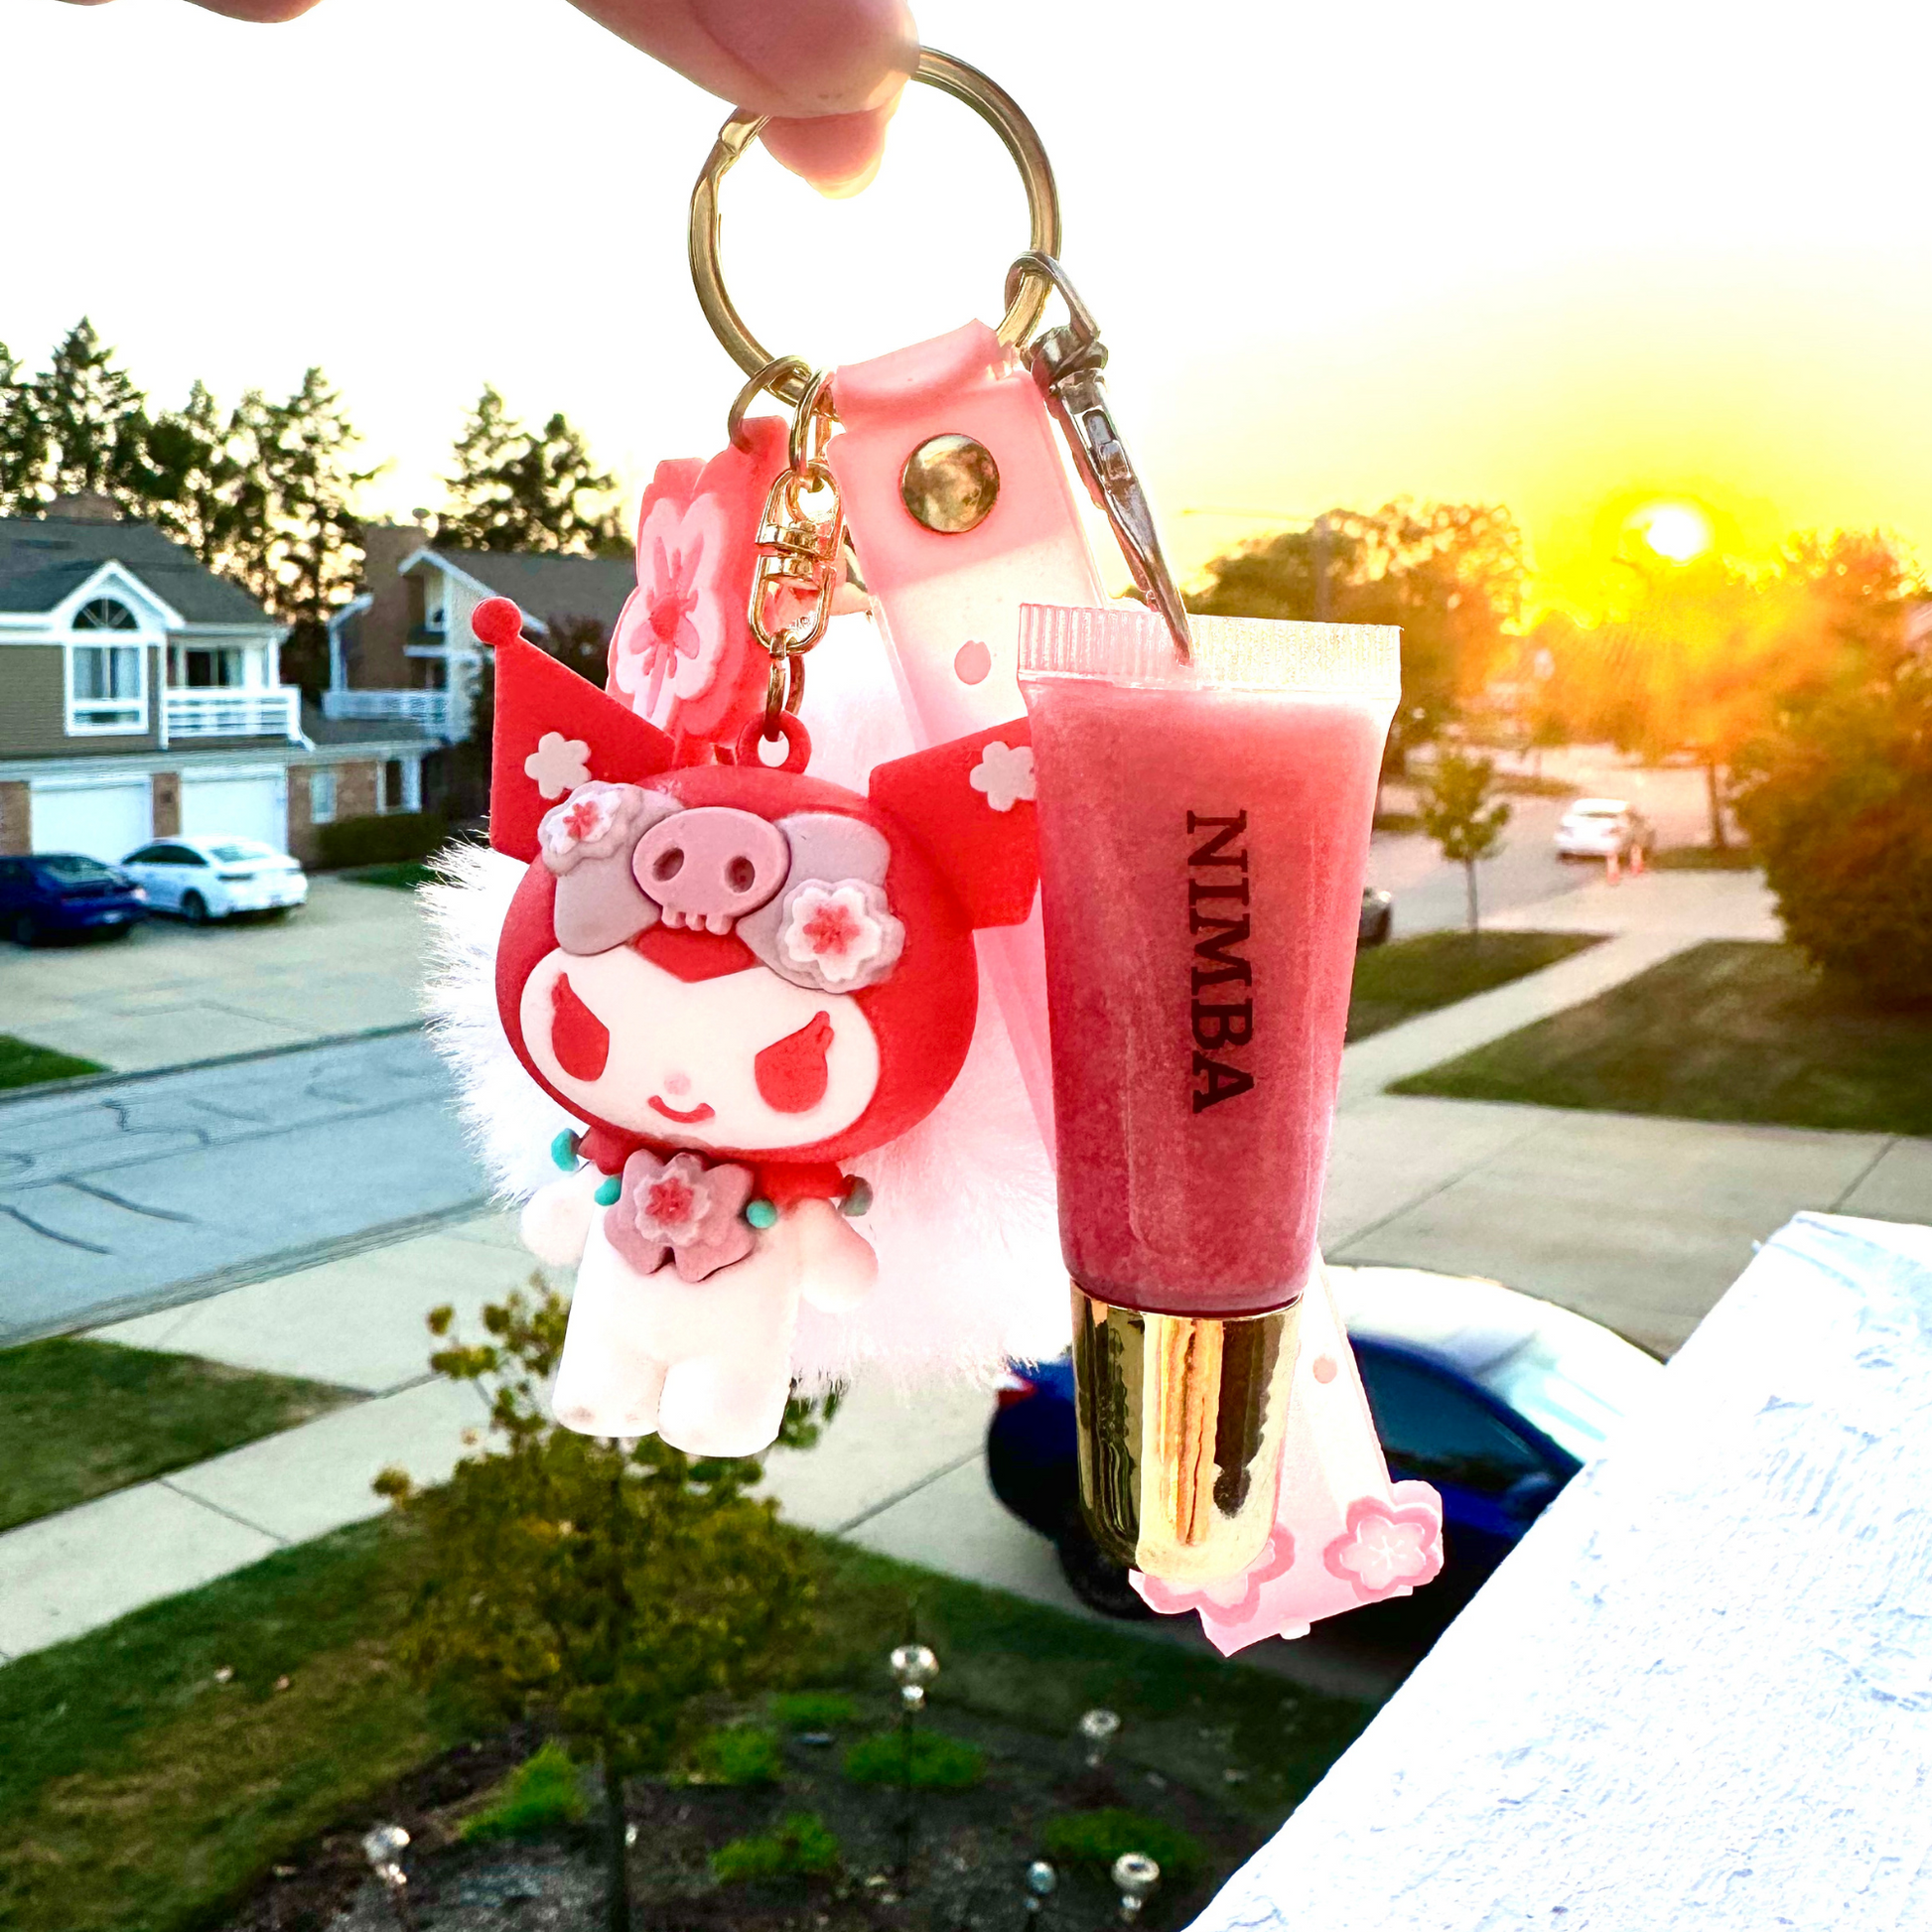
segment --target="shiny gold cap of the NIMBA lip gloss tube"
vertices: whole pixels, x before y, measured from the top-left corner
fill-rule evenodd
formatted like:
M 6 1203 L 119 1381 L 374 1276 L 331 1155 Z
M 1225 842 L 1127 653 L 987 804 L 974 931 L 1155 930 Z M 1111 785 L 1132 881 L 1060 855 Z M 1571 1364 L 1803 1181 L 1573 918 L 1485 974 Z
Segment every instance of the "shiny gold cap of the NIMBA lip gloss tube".
M 1275 1526 L 1300 1302 L 1208 1320 L 1072 1294 L 1080 1513 L 1094 1540 L 1163 1582 L 1240 1575 Z

